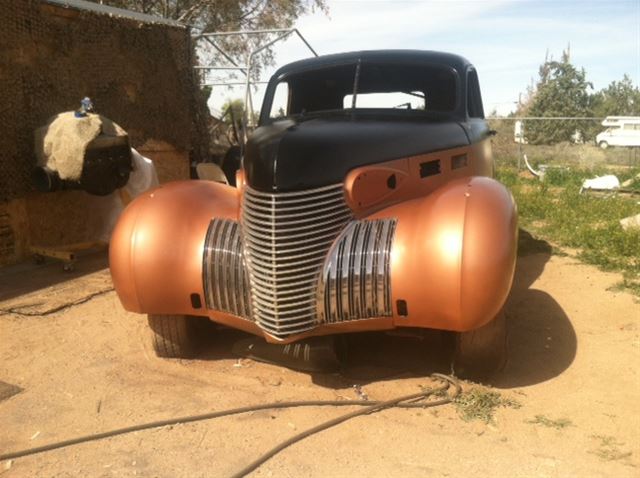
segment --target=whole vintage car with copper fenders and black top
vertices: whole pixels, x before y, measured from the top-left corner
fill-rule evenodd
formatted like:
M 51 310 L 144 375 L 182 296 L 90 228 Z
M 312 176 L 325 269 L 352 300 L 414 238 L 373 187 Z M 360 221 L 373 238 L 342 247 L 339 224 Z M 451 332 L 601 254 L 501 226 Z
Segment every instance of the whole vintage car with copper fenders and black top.
M 397 328 L 449 331 L 454 366 L 505 360 L 516 258 L 492 179 L 478 76 L 430 51 L 327 55 L 280 68 L 232 187 L 138 197 L 113 233 L 113 282 L 160 356 L 194 317 L 271 343 Z M 478 368 L 479 367 L 479 368 Z

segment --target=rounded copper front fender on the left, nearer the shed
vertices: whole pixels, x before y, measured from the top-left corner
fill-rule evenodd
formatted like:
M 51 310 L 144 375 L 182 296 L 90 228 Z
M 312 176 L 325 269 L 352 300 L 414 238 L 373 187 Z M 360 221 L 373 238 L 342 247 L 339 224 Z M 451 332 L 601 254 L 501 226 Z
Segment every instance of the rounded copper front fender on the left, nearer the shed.
M 179 181 L 137 197 L 113 231 L 109 267 L 125 309 L 147 314 L 198 314 L 202 257 L 213 216 L 238 219 L 238 192 L 211 181 Z M 197 302 L 196 302 L 197 304 Z

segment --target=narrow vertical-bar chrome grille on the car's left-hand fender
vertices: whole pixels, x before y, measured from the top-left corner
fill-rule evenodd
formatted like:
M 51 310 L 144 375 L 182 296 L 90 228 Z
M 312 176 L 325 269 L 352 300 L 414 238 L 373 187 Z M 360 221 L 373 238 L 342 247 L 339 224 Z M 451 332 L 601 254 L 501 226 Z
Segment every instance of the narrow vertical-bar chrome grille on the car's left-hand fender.
M 202 273 L 207 308 L 251 318 L 249 274 L 237 222 L 211 221 L 204 243 Z

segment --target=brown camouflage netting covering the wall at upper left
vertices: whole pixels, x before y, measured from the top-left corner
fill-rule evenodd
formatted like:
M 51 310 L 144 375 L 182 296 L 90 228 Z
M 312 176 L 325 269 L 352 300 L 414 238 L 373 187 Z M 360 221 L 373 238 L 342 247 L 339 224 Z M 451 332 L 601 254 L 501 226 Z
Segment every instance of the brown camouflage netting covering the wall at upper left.
M 3 0 L 0 52 L 0 202 L 32 189 L 34 130 L 85 96 L 133 147 L 206 150 L 186 28 Z

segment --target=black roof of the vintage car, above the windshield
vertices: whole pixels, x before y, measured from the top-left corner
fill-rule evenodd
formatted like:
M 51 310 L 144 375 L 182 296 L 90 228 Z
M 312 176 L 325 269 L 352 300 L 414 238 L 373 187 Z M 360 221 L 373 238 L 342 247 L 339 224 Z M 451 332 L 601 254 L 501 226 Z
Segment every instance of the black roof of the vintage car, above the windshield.
M 355 63 L 358 60 L 370 61 L 406 61 L 411 63 L 436 63 L 454 68 L 457 71 L 471 65 L 469 61 L 459 55 L 452 53 L 444 53 L 429 50 L 364 50 L 353 51 L 349 53 L 336 53 L 332 55 L 322 55 L 318 57 L 307 58 L 305 60 L 289 63 L 278 69 L 273 75 L 277 78 L 281 75 L 303 71 L 308 69 L 322 68 L 337 63 Z

